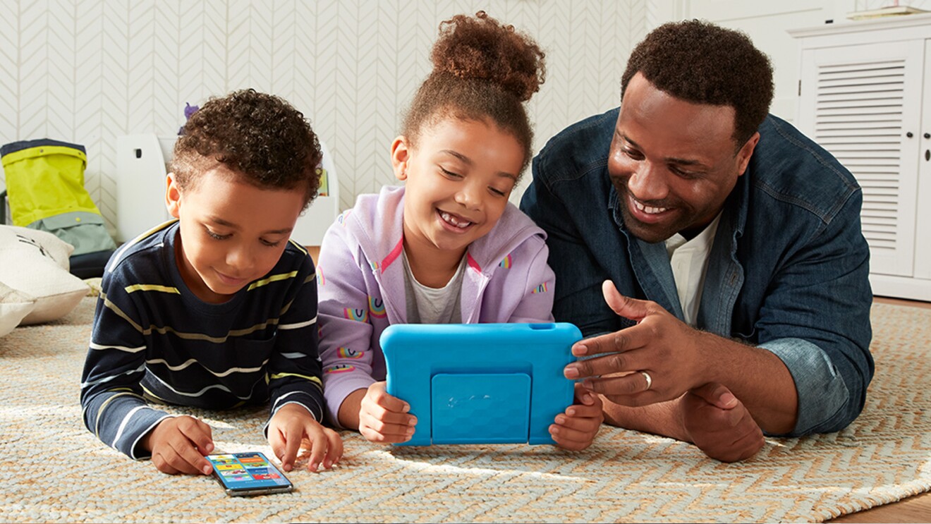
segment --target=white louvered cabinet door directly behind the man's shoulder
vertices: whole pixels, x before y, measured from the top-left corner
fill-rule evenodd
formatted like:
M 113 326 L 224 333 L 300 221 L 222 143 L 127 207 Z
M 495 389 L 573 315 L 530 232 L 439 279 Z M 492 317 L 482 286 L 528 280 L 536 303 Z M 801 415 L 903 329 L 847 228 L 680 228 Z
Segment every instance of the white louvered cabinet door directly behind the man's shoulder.
M 863 188 L 871 274 L 915 272 L 924 47 L 921 39 L 802 51 L 798 128 Z

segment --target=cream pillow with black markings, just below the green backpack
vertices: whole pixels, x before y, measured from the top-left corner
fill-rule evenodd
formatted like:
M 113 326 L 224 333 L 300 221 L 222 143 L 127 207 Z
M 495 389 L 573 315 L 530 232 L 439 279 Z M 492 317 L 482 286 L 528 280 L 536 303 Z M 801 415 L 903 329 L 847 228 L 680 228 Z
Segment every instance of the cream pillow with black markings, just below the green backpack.
M 35 298 L 20 324 L 39 324 L 68 315 L 88 285 L 68 273 L 74 247 L 58 236 L 13 225 L 0 225 L 0 282 Z

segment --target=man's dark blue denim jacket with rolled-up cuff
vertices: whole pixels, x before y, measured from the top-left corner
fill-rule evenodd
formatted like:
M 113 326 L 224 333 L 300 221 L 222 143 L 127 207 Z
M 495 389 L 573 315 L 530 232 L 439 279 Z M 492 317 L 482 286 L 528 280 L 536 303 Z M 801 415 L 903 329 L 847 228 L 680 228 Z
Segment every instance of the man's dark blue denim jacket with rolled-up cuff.
M 628 234 L 608 178 L 617 114 L 589 117 L 548 141 L 520 203 L 548 235 L 553 315 L 586 336 L 630 325 L 602 298 L 608 278 L 682 318 L 664 243 Z M 770 115 L 759 130 L 724 204 L 697 327 L 782 359 L 799 397 L 789 435 L 838 431 L 863 409 L 873 374 L 862 194 L 846 168 L 787 122 Z

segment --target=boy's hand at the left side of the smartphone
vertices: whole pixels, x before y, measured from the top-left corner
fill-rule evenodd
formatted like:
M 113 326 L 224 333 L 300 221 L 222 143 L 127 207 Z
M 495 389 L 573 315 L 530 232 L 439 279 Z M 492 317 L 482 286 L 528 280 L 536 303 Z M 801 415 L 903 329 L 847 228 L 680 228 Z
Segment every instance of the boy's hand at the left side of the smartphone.
M 162 473 L 209 475 L 213 466 L 204 458 L 213 450 L 210 426 L 183 415 L 165 419 L 155 425 L 140 443 L 152 451 L 152 463 Z

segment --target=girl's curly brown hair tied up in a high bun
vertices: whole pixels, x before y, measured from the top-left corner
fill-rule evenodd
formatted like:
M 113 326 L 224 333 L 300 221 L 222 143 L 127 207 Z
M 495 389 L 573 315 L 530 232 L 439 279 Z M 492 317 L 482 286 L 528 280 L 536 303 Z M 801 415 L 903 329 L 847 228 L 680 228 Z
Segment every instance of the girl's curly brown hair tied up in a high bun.
M 431 53 L 433 71 L 414 95 L 401 133 L 414 143 L 425 125 L 442 118 L 488 118 L 523 147 L 523 171 L 533 147 L 523 102 L 546 80 L 545 57 L 533 38 L 484 11 L 442 21 Z

